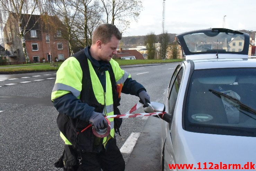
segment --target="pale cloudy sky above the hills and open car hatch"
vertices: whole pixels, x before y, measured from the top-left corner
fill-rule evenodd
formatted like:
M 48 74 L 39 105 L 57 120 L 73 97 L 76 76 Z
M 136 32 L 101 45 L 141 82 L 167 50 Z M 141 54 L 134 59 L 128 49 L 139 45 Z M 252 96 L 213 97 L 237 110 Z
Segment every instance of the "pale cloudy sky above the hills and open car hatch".
M 123 36 L 161 34 L 163 0 L 141 0 L 138 22 L 131 21 Z M 165 30 L 184 33 L 206 28 L 256 31 L 256 0 L 165 0 Z

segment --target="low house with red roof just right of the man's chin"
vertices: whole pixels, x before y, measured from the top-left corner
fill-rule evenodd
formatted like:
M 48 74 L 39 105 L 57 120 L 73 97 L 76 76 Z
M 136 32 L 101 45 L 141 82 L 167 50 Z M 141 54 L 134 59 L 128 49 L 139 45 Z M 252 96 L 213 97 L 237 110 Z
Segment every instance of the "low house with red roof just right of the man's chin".
M 122 48 L 117 51 L 117 55 L 115 55 L 114 58 L 123 60 L 144 60 L 143 55 L 137 50 L 123 50 Z

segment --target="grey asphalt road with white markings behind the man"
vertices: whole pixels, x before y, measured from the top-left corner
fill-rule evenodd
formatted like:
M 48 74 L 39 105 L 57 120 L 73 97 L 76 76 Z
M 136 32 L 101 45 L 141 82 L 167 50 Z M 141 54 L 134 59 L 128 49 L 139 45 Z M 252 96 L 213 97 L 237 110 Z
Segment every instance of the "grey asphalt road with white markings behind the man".
M 131 73 L 133 79 L 143 84 L 151 101 L 162 102 L 163 93 L 176 66 L 176 63 L 168 63 L 123 68 Z M 0 75 L 0 171 L 61 170 L 53 166 L 63 150 L 63 142 L 56 126 L 58 112 L 51 102 L 55 77 L 55 72 Z M 131 95 L 121 96 L 119 108 L 122 114 L 139 100 Z M 136 112 L 144 111 L 139 109 Z M 155 133 L 157 127 L 153 122 L 148 122 L 147 130 L 152 129 Z M 146 123 L 147 118 L 123 119 L 121 137 L 117 135 L 118 147 L 121 148 L 132 133 L 140 134 Z M 138 139 L 142 144 L 143 136 Z M 147 142 L 148 148 L 158 146 L 153 143 L 157 141 Z M 144 150 L 141 148 L 136 148 L 135 145 L 132 153 L 122 153 L 125 162 L 129 163 L 133 153 L 141 153 L 140 157 L 147 155 L 142 153 Z M 151 163 L 156 166 L 151 167 L 152 170 L 160 170 L 160 152 L 156 153 L 159 154 L 159 159 L 158 154 L 152 155 L 155 157 L 152 161 L 156 162 Z M 129 167 L 126 170 L 129 170 Z

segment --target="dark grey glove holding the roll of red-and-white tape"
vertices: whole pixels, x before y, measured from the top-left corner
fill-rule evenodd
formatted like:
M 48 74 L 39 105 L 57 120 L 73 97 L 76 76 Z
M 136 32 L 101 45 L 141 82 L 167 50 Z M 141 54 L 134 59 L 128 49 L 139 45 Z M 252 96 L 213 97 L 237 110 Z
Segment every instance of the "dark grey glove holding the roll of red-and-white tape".
M 108 126 L 107 120 L 104 116 L 95 111 L 92 112 L 92 117 L 89 119 L 89 122 L 97 131 L 99 131 L 99 129 L 105 129 Z

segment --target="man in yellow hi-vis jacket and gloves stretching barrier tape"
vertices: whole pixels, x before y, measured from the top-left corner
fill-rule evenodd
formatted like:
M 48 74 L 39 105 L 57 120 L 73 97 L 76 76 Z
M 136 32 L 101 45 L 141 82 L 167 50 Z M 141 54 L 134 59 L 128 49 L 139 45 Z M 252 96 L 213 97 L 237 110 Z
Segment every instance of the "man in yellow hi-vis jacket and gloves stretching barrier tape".
M 104 116 L 120 114 L 116 89 L 140 97 L 144 106 L 150 103 L 145 88 L 112 59 L 121 38 L 114 25 L 99 25 L 92 35 L 91 47 L 75 53 L 60 66 L 52 101 L 59 111 L 57 124 L 65 146 L 56 167 L 78 171 L 124 170 L 125 162 L 115 139 L 121 119 L 109 119 L 110 134 L 104 138 L 96 137 L 91 127 L 81 132 L 89 124 L 96 130 L 105 129 L 108 123 Z

